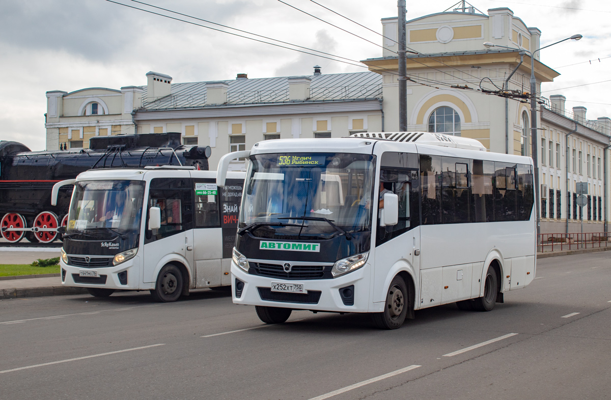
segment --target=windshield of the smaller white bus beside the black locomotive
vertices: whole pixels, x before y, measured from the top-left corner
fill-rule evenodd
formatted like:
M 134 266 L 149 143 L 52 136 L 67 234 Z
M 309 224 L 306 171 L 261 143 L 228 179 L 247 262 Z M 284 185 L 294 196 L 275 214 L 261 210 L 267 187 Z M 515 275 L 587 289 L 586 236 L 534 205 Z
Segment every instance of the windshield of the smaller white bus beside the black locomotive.
M 76 182 L 66 233 L 97 239 L 137 233 L 143 201 L 143 181 Z

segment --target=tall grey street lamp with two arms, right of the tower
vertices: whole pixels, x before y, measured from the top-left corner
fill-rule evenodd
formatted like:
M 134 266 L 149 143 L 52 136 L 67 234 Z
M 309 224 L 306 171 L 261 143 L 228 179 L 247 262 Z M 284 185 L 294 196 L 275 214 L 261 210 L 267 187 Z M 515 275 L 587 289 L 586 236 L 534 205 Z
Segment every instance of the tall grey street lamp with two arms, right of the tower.
M 501 48 L 505 48 L 505 49 L 511 49 L 511 50 L 517 50 L 517 51 L 524 51 L 525 53 L 529 53 L 530 54 L 530 140 L 532 141 L 532 143 L 530 144 L 531 147 L 531 153 L 532 153 L 532 158 L 533 158 L 533 164 L 535 164 L 535 209 L 536 209 L 536 234 L 537 234 L 537 241 L 539 239 L 539 234 L 541 233 L 541 205 L 539 203 L 539 162 L 538 162 L 538 157 L 537 157 L 537 153 L 536 153 L 536 148 L 537 148 L 537 136 L 536 136 L 536 81 L 535 81 L 535 53 L 537 51 L 541 51 L 544 48 L 548 48 L 549 46 L 554 46 L 557 45 L 558 43 L 562 43 L 565 42 L 565 40 L 579 40 L 580 38 L 582 38 L 583 36 L 580 34 L 577 35 L 573 35 L 571 37 L 568 37 L 566 39 L 562 39 L 562 40 L 558 40 L 558 42 L 552 43 L 551 45 L 547 45 L 547 46 L 543 46 L 541 48 L 536 49 L 535 51 L 528 51 L 526 49 L 519 49 L 519 48 L 514 48 L 514 47 L 508 47 L 508 46 L 501 46 L 501 45 L 495 45 L 492 42 L 485 42 L 484 46 L 486 48 L 491 48 L 491 47 L 501 47 Z M 567 187 L 568 190 L 568 187 Z

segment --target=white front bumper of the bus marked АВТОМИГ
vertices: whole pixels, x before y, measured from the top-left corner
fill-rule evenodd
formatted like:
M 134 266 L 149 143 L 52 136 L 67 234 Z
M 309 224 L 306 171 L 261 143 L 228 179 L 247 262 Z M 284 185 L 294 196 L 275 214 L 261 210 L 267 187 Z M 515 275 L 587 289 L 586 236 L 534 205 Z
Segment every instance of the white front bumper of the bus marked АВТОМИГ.
M 267 307 L 291 308 L 293 310 L 332 311 L 338 313 L 367 313 L 369 311 L 369 285 L 367 279 L 370 265 L 365 264 L 356 271 L 349 272 L 333 279 L 316 280 L 283 280 L 251 275 L 231 264 L 232 297 L 234 304 L 262 305 Z M 243 283 L 240 297 L 236 296 L 236 280 Z M 272 292 L 272 282 L 287 285 L 302 283 L 304 293 L 292 296 L 293 293 Z M 340 291 L 353 286 L 353 305 L 346 305 Z M 320 292 L 320 297 L 319 293 Z M 298 300 L 296 302 L 295 300 Z M 349 300 L 348 300 L 349 304 Z

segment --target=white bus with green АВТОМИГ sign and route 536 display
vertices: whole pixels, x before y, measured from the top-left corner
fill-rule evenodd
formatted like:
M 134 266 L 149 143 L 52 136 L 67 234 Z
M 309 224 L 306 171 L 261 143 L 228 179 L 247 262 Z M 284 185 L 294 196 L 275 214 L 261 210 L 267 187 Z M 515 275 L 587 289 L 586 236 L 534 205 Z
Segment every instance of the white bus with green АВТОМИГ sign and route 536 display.
M 488 311 L 535 275 L 532 159 L 424 132 L 268 140 L 249 165 L 233 250 L 235 304 L 263 322 L 291 310 Z

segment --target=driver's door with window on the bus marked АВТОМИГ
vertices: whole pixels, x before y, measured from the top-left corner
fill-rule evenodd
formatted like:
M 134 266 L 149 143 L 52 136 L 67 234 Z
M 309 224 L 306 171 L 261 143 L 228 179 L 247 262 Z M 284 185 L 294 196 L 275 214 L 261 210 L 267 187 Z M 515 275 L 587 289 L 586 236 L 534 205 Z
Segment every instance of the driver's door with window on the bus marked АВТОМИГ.
M 397 225 L 381 227 L 378 211 L 376 223 L 375 284 L 374 301 L 386 300 L 386 282 L 390 269 L 404 261 L 414 271 L 414 283 L 418 287 L 420 269 L 420 181 L 419 172 L 413 162 L 417 155 L 408 153 L 384 153 L 380 169 L 378 189 L 378 208 L 383 208 L 383 194 L 394 193 L 398 196 L 399 218 Z M 409 161 L 409 162 L 408 162 Z M 382 194 L 382 195 L 380 195 Z

